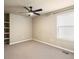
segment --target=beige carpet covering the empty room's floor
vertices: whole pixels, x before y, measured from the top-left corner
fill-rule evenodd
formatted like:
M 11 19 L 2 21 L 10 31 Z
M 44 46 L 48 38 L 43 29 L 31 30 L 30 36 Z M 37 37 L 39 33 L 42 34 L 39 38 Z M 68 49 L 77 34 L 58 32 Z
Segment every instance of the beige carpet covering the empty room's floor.
M 5 45 L 4 59 L 74 59 L 72 53 L 36 41 Z

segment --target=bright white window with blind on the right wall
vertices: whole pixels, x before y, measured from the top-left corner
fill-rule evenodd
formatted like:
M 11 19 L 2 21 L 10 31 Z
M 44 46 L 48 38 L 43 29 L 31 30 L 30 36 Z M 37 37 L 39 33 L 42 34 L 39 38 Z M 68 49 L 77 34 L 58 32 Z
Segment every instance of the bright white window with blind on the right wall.
M 74 12 L 65 12 L 57 15 L 57 38 L 74 40 Z

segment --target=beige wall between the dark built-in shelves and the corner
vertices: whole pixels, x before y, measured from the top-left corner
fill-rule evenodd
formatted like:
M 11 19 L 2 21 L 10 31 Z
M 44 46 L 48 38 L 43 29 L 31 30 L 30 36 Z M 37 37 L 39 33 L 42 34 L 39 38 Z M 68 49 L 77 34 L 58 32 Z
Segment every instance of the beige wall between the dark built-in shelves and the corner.
M 10 44 L 32 39 L 32 19 L 10 14 Z

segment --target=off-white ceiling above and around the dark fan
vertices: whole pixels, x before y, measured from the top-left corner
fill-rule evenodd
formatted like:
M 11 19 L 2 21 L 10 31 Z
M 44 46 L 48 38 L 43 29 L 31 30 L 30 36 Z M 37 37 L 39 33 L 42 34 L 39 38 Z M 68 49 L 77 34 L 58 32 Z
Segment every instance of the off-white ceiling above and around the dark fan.
M 4 0 L 5 12 L 24 12 L 24 6 L 33 6 L 33 9 L 42 8 L 41 13 L 55 11 L 73 5 L 73 0 Z

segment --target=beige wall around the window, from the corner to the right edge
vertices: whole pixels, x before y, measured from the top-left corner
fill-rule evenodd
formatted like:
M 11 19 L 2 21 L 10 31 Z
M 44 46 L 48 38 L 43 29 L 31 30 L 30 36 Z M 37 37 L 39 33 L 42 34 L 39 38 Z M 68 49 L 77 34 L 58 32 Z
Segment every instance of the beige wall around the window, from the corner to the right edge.
M 57 18 L 54 14 L 33 18 L 33 39 L 73 51 L 73 42 L 57 39 L 56 20 Z

